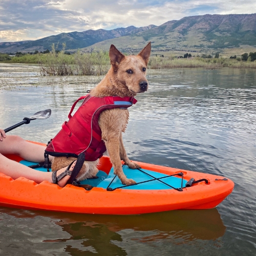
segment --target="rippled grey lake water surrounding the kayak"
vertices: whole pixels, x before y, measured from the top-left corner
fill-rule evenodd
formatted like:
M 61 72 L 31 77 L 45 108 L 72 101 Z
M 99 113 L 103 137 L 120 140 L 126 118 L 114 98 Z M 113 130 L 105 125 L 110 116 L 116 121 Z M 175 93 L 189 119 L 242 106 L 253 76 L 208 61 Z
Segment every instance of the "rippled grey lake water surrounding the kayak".
M 0 63 L 0 127 L 37 111 L 52 116 L 10 132 L 47 142 L 73 102 L 102 77 L 40 77 L 38 67 Z M 0 208 L 0 255 L 256 255 L 256 71 L 150 70 L 130 108 L 130 159 L 230 178 L 209 210 L 135 216 Z

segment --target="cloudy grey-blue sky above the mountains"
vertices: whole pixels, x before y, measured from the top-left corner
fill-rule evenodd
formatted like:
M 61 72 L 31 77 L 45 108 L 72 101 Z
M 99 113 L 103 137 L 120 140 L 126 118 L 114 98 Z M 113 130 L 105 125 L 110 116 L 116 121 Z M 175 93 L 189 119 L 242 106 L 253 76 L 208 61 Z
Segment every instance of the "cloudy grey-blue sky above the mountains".
M 0 0 L 0 42 L 88 29 L 159 26 L 193 15 L 255 12 L 255 0 Z

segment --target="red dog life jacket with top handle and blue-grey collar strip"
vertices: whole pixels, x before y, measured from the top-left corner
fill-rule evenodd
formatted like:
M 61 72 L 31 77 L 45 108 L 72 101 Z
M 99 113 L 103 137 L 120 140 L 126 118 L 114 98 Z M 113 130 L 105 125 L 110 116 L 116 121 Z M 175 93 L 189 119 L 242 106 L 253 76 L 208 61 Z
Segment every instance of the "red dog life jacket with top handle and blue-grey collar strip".
M 72 116 L 76 103 L 81 99 L 84 99 L 83 103 Z M 62 124 L 60 132 L 47 146 L 46 154 L 56 157 L 78 157 L 83 152 L 85 160 L 97 160 L 106 151 L 98 124 L 100 113 L 116 108 L 127 109 L 136 102 L 137 100 L 133 97 L 98 98 L 90 94 L 80 97 L 71 108 L 69 121 Z

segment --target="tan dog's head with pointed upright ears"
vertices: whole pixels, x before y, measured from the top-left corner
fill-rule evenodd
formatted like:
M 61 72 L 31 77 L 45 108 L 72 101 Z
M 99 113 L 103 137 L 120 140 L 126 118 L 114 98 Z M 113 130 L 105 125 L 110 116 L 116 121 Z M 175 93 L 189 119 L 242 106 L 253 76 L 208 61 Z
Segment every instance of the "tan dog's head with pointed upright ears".
M 116 84 L 121 84 L 131 95 L 147 91 L 147 62 L 151 54 L 151 42 L 138 54 L 125 56 L 114 45 L 110 47 L 110 62 Z

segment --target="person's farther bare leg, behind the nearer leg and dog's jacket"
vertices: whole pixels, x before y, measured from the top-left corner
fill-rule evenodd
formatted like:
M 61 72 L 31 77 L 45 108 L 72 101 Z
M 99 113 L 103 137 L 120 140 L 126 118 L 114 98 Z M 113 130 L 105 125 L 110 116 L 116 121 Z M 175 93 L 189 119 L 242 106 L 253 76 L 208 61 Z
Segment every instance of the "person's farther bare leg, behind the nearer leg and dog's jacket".
M 28 142 L 16 135 L 8 135 L 0 141 L 0 154 L 15 154 L 31 162 L 44 161 L 45 149 L 45 146 Z M 52 161 L 51 156 L 49 159 Z

